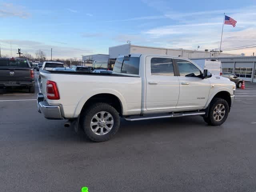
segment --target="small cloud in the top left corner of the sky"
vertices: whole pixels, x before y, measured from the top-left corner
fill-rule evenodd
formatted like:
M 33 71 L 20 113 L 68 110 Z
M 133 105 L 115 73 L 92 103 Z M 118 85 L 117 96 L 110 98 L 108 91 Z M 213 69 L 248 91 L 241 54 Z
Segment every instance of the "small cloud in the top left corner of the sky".
M 0 4 L 0 18 L 1 17 L 19 17 L 26 19 L 30 13 L 24 6 L 14 5 L 12 3 Z

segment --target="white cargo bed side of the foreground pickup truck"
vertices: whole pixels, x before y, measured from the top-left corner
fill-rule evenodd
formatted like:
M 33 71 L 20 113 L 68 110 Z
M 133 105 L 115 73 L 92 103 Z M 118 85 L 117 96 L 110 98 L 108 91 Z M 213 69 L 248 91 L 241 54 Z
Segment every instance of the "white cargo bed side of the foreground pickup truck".
M 57 84 L 59 100 L 46 101 L 62 105 L 65 118 L 76 118 L 85 102 L 97 94 L 112 94 L 122 103 L 122 114 L 140 114 L 142 79 L 122 74 L 100 74 L 86 71 L 41 71 L 42 93 L 46 96 L 47 80 Z M 103 95 L 100 95 L 104 97 Z

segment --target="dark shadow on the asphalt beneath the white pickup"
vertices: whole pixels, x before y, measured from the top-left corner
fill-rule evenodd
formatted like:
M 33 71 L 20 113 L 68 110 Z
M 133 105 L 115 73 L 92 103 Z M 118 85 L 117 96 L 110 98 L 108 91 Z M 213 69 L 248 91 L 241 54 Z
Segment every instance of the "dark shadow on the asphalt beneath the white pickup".
M 55 123 L 54 123 L 55 124 Z M 55 128 L 53 128 L 53 126 Z M 50 126 L 49 137 L 51 140 L 62 140 L 70 142 L 92 142 L 86 138 L 84 133 L 76 133 L 73 127 L 65 128 L 64 121 L 58 122 Z M 212 128 L 208 126 L 202 117 L 183 117 L 183 118 L 170 118 L 170 119 L 157 119 L 157 120 L 145 120 L 138 122 L 127 122 L 124 119 L 121 120 L 120 128 L 116 135 L 110 139 L 120 140 L 128 139 L 132 140 L 134 137 L 149 137 L 153 134 L 155 136 L 172 135 L 174 133 L 181 133 L 184 131 L 188 132 L 201 132 L 207 128 Z M 48 134 L 49 134 L 48 132 Z

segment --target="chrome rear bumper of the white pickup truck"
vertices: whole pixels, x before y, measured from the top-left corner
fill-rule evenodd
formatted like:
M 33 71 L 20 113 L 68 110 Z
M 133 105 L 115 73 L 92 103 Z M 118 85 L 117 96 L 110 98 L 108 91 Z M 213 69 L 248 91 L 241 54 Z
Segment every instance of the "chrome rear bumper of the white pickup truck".
M 47 101 L 44 101 L 42 93 L 38 93 L 37 96 L 37 108 L 38 112 L 42 113 L 46 119 L 63 119 L 61 115 L 61 109 L 58 105 L 50 105 Z

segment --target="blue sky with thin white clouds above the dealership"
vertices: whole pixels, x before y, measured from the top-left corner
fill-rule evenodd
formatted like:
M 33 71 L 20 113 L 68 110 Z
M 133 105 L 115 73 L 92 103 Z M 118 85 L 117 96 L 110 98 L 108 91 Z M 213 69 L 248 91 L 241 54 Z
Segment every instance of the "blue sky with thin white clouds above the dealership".
M 0 0 L 2 54 L 38 49 L 54 58 L 108 54 L 108 47 L 132 44 L 201 50 L 219 48 L 223 14 L 237 20 L 224 26 L 223 48 L 256 44 L 256 1 L 202 0 Z M 230 53 L 254 50 L 238 50 Z M 256 50 L 255 50 L 256 52 Z

